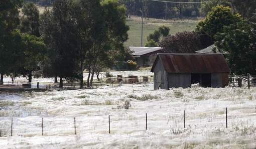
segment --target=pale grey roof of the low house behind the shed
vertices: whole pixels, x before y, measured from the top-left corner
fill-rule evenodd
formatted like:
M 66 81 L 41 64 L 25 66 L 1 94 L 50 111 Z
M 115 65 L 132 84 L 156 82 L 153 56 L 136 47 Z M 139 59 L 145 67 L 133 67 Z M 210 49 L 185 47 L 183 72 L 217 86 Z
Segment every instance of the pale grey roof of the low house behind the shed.
M 131 51 L 134 51 L 133 56 L 140 57 L 152 52 L 161 52 L 163 49 L 161 47 L 129 47 Z

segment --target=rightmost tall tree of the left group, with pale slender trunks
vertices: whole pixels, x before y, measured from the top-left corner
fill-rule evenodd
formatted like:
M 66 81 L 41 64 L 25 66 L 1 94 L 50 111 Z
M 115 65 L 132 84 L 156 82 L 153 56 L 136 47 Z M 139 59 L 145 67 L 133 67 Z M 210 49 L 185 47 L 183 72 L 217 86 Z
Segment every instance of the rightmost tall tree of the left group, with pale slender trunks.
M 128 39 L 127 31 L 129 26 L 126 25 L 126 9 L 119 5 L 118 1 L 105 0 L 101 2 L 102 24 L 98 27 L 101 29 L 100 34 L 95 34 L 96 38 L 91 51 L 88 52 L 88 60 L 92 62 L 88 69 L 92 70 L 91 79 L 88 84 L 92 86 L 92 80 L 95 73 L 95 67 L 104 61 L 106 64 L 114 62 L 114 56 L 120 51 L 124 52 L 123 42 Z M 107 65 L 110 66 L 110 65 Z

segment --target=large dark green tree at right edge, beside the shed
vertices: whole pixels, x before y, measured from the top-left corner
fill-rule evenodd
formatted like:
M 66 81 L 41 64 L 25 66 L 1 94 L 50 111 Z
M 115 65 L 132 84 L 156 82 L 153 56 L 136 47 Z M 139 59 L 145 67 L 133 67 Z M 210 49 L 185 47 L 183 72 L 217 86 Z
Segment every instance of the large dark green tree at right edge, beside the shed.
M 247 21 L 226 26 L 215 35 L 215 45 L 237 74 L 256 75 L 256 25 Z

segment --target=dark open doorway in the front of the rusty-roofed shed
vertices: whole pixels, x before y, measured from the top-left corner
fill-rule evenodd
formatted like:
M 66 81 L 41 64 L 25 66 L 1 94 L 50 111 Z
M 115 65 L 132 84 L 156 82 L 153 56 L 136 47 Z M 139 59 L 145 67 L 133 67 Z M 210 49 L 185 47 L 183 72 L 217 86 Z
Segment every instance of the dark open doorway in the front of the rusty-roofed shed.
M 192 73 L 191 84 L 199 83 L 202 87 L 211 87 L 211 74 L 210 73 Z

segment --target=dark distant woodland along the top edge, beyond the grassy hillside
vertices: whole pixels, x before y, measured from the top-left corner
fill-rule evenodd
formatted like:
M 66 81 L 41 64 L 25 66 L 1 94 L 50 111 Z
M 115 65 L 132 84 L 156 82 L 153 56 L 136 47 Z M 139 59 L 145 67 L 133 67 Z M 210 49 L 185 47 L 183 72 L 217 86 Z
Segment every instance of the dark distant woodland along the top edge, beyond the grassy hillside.
M 41 6 L 52 6 L 56 0 L 24 0 Z M 165 0 L 171 1 L 171 0 Z M 144 2 L 144 3 L 143 3 Z M 198 4 L 163 3 L 151 0 L 118 0 L 126 7 L 126 15 L 142 16 L 146 18 L 172 19 L 204 17 L 217 5 L 228 6 L 239 12 L 242 17 L 249 18 L 255 13 L 256 0 L 172 0 L 172 2 L 202 2 Z M 144 6 L 144 7 L 143 7 Z M 254 19 L 256 21 L 256 19 Z

